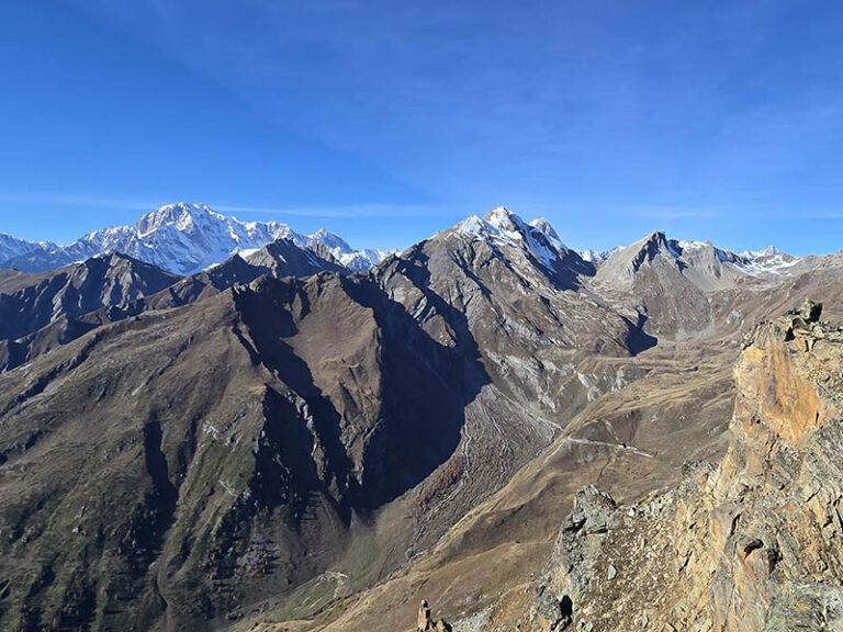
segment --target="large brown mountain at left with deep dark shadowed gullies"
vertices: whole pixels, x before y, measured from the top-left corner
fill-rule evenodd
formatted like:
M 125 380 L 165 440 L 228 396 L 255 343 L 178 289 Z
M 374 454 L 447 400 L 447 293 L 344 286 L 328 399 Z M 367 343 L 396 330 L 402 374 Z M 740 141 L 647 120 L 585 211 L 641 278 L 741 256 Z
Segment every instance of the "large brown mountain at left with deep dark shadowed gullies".
M 3 624 L 200 622 L 341 558 L 344 533 L 454 449 L 471 396 L 458 350 L 381 301 L 338 275 L 263 278 L 0 377 L 1 467 L 44 463 L 0 486 L 4 532 L 21 533 L 3 546 Z M 25 572 L 36 550 L 46 583 Z M 95 609 L 75 601 L 100 580 Z

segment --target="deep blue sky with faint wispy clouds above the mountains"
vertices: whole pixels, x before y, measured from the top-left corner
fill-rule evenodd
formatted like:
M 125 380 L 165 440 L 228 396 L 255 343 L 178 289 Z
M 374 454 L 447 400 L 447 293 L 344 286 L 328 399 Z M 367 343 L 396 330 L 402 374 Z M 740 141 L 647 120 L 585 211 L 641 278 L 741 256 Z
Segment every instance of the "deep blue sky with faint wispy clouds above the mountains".
M 175 201 L 402 247 L 506 204 L 843 248 L 835 1 L 0 3 L 0 232 Z

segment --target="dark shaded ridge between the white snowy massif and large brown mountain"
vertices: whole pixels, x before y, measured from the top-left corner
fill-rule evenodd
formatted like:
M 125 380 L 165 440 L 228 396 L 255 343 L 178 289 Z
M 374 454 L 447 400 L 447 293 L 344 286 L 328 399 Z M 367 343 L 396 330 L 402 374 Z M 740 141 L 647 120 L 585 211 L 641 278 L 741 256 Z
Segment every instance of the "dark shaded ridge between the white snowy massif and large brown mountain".
M 187 278 L 123 255 L 41 274 L 0 270 L 0 372 L 106 323 L 202 301 L 265 274 L 308 276 L 326 270 L 347 272 L 333 258 L 323 259 L 288 239 L 255 250 L 248 261 L 235 255 Z

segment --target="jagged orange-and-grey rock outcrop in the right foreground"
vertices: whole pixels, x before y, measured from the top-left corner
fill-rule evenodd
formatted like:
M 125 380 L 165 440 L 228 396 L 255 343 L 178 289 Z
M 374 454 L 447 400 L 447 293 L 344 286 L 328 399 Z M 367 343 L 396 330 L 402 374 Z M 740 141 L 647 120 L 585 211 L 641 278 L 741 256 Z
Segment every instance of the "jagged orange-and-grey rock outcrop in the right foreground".
M 806 302 L 757 325 L 735 369 L 729 450 L 675 490 L 576 494 L 533 630 L 843 629 L 843 328 Z

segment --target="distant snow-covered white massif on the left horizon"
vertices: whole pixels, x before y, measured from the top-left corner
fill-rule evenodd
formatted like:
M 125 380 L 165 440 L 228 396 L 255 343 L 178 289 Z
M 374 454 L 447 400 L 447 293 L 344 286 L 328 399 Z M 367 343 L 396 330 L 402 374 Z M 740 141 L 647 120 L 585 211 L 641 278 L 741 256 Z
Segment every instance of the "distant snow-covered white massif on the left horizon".
M 386 256 L 380 250 L 352 250 L 327 230 L 302 235 L 279 222 L 241 222 L 202 204 L 169 204 L 145 214 L 133 226 L 89 233 L 67 246 L 31 244 L 0 235 L 0 268 L 35 272 L 52 270 L 102 255 L 122 252 L 162 270 L 192 274 L 235 252 L 254 251 L 277 239 L 306 249 L 326 248 L 351 270 L 366 270 Z M 324 248 L 321 248 L 324 247 Z

